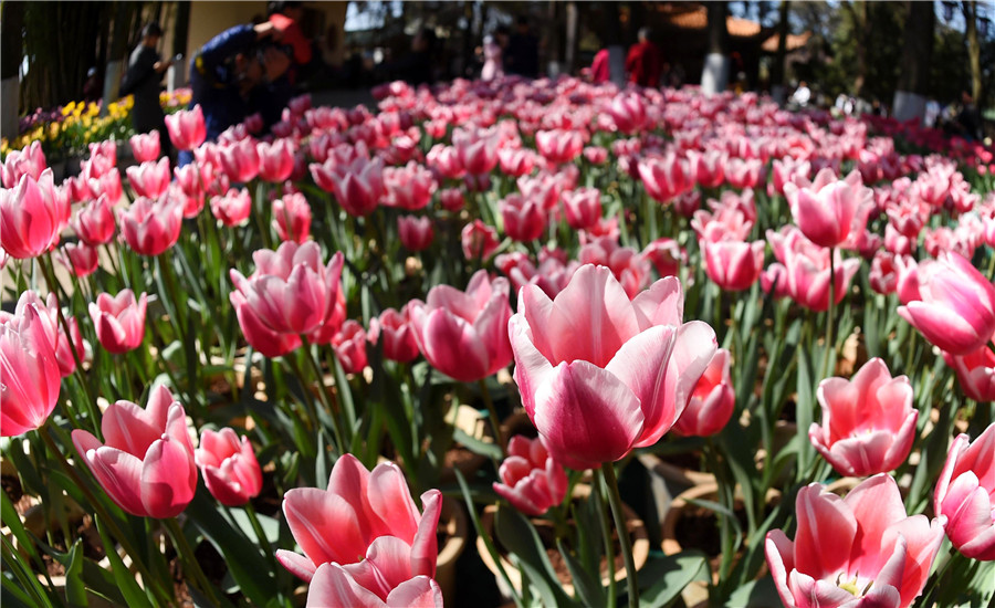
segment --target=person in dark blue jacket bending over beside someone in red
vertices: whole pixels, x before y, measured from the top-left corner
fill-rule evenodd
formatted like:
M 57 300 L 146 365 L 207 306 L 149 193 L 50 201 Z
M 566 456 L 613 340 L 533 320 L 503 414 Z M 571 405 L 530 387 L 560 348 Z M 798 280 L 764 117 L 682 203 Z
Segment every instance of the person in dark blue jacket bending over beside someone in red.
M 235 25 L 212 38 L 190 59 L 189 107 L 200 104 L 209 141 L 255 112 L 280 116 L 283 108 L 270 106 L 285 96 L 272 92 L 290 88 L 285 74 L 291 65 L 291 55 L 280 45 L 281 36 L 269 21 Z M 190 160 L 192 154 L 185 151 L 179 165 Z

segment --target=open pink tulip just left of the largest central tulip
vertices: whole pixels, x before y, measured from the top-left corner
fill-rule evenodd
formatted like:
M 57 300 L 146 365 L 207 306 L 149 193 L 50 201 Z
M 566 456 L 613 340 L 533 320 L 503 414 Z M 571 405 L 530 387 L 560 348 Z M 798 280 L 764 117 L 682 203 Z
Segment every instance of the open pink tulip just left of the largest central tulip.
M 479 270 L 465 292 L 437 285 L 427 302 L 411 301 L 411 328 L 429 364 L 461 382 L 486 378 L 506 367 L 512 358 L 507 296 L 506 279 L 492 281 L 485 270 Z

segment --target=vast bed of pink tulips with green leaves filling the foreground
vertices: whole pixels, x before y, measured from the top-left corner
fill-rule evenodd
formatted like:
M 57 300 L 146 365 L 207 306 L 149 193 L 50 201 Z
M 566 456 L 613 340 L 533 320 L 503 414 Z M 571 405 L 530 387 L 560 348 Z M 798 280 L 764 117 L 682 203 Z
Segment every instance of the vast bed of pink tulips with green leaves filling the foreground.
M 212 143 L 180 111 L 185 167 L 155 136 L 132 138 L 124 175 L 113 141 L 91 145 L 61 184 L 39 141 L 8 153 L 4 594 L 992 600 L 991 150 L 902 154 L 752 94 L 375 95 L 377 112 L 298 97 L 272 134 Z M 689 454 L 709 475 L 642 464 Z M 674 549 L 670 500 L 702 476 L 683 496 L 708 497 L 680 505 L 709 530 Z M 844 497 L 825 488 L 840 478 Z M 500 583 L 472 548 L 463 575 L 437 573 L 459 527 L 442 493 Z M 637 566 L 618 531 L 643 526 L 671 551 Z M 624 581 L 603 576 L 619 563 Z

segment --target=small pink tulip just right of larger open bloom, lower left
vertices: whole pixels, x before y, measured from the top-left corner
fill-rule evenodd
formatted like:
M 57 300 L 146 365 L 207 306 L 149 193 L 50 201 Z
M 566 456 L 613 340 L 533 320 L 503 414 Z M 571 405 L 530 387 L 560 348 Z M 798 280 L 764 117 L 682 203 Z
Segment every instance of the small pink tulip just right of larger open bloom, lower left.
M 242 506 L 262 491 L 262 471 L 249 438 L 226 427 L 205 429 L 193 452 L 203 482 L 214 499 L 226 506 Z

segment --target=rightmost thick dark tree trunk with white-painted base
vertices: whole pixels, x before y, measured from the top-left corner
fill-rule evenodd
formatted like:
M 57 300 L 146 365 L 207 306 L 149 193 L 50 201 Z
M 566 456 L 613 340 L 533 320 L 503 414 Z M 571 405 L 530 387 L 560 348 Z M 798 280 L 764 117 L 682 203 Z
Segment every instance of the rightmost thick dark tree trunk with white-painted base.
M 933 2 L 908 2 L 905 41 L 902 46 L 902 71 L 894 92 L 894 117 L 899 120 L 922 119 L 933 54 Z

